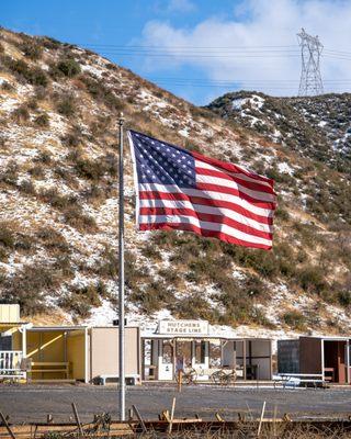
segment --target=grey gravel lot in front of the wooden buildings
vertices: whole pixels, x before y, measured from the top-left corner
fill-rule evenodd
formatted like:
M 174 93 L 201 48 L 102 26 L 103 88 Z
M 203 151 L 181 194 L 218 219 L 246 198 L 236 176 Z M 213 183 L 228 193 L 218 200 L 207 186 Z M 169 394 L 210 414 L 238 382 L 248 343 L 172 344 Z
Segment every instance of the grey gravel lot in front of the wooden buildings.
M 219 412 L 226 419 L 234 419 L 238 412 L 249 410 L 258 416 L 263 401 L 267 416 L 288 413 L 292 416 L 349 416 L 351 387 L 331 390 L 273 390 L 229 389 L 215 386 L 188 386 L 177 393 L 172 386 L 135 386 L 127 389 L 126 406 L 135 404 L 146 419 L 171 407 L 177 396 L 176 416 L 214 419 Z M 68 421 L 72 416 L 70 403 L 75 402 L 82 420 L 91 420 L 93 414 L 106 412 L 117 416 L 116 386 L 92 385 L 0 385 L 0 410 L 12 423 L 45 421 L 53 414 L 56 421 Z

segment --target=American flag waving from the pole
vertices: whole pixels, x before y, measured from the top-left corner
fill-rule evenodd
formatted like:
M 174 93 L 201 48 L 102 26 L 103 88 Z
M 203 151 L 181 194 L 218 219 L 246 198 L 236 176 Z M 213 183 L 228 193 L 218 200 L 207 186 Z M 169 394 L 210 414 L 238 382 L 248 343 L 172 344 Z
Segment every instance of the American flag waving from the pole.
M 272 248 L 273 180 L 141 133 L 128 137 L 139 230 L 189 230 Z

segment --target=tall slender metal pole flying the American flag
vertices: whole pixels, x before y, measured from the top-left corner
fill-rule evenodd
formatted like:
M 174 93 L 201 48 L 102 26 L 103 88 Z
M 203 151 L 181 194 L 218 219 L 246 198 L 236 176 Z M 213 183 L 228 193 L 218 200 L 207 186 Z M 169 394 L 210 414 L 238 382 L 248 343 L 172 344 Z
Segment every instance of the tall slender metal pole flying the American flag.
M 125 420 L 124 374 L 124 176 L 123 176 L 123 113 L 120 114 L 120 161 L 118 161 L 118 399 L 120 420 Z

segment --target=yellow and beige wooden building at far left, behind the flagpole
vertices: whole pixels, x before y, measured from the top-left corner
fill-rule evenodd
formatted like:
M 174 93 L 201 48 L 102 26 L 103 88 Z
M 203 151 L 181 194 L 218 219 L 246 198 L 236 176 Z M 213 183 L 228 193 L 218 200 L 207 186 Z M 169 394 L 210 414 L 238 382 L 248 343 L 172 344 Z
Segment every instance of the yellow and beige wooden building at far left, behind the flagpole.
M 140 335 L 127 326 L 126 378 L 140 379 Z M 33 326 L 0 304 L 0 379 L 105 382 L 118 376 L 118 327 Z

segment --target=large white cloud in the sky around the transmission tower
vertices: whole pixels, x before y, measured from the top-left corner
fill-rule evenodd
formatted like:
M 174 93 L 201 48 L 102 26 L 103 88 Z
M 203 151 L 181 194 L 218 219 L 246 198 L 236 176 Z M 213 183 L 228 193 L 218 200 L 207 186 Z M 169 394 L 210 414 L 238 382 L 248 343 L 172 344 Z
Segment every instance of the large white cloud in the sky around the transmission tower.
M 231 19 L 208 18 L 193 29 L 174 27 L 161 21 L 148 22 L 143 44 L 173 56 L 157 58 L 157 63 L 149 58 L 146 66 L 154 72 L 192 66 L 215 81 L 245 80 L 246 88 L 252 83 L 257 90 L 271 94 L 293 94 L 297 92 L 301 74 L 296 37 L 301 27 L 312 35 L 319 35 L 325 46 L 322 78 L 351 79 L 351 2 L 337 0 L 247 0 L 235 9 Z M 174 46 L 184 48 L 176 50 Z M 211 48 L 196 49 L 204 46 Z M 250 48 L 223 48 L 238 46 Z M 272 52 L 272 48 L 262 46 L 292 47 L 276 47 Z M 331 56 L 328 49 L 350 52 L 343 56 L 349 59 L 339 59 L 340 55 L 336 54 Z M 285 82 L 290 79 L 294 82 Z M 337 86 L 326 81 L 325 89 L 350 91 L 351 81 Z

